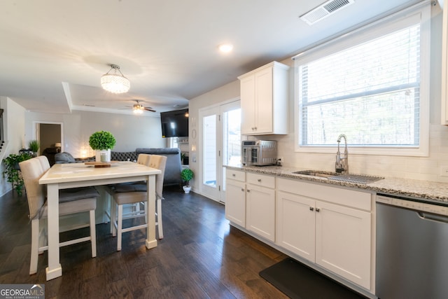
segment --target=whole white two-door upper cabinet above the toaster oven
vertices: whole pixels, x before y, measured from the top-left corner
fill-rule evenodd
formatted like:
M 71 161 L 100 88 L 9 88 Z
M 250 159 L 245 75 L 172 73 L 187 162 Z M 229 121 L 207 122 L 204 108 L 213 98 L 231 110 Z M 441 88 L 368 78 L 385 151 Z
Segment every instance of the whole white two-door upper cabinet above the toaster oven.
M 288 69 L 271 62 L 238 77 L 241 134 L 288 134 Z

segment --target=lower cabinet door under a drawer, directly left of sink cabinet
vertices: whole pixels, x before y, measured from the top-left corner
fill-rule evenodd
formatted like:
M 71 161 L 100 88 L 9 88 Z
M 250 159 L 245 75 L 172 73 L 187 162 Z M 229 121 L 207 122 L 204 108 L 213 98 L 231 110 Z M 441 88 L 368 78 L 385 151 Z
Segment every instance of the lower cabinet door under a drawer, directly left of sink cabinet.
M 246 229 L 275 242 L 275 191 L 246 185 Z

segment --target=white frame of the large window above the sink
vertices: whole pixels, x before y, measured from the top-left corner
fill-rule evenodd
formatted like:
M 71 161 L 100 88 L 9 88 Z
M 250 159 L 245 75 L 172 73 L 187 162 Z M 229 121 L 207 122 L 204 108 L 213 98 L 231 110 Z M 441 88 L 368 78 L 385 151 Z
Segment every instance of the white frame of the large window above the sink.
M 334 145 L 310 146 L 301 145 L 302 116 L 300 111 L 300 85 L 298 65 L 318 58 L 351 48 L 380 36 L 397 31 L 409 25 L 420 23 L 420 111 L 419 111 L 419 146 L 350 146 L 350 137 L 347 136 L 350 153 L 366 155 L 403 155 L 428 156 L 429 155 L 429 102 L 430 102 L 430 5 L 416 6 L 400 13 L 372 22 L 369 25 L 355 29 L 352 32 L 339 36 L 299 55 L 293 57 L 294 67 L 294 126 L 295 126 L 295 152 L 302 153 L 333 153 Z M 345 132 L 340 132 L 344 134 Z

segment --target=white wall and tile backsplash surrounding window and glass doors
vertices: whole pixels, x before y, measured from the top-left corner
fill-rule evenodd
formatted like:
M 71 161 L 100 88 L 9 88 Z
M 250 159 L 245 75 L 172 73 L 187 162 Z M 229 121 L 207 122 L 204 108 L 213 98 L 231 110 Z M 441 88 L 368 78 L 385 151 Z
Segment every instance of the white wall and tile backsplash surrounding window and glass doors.
M 448 167 L 448 126 L 440 125 L 440 90 L 442 61 L 442 11 L 439 6 L 433 6 L 431 18 L 431 62 L 430 62 L 430 141 L 428 157 L 397 157 L 388 155 L 353 155 L 349 154 L 349 166 L 352 173 L 370 174 L 406 179 L 448 182 L 447 177 L 440 176 L 440 167 Z M 298 49 L 297 49 L 298 50 Z M 290 98 L 287 135 L 267 135 L 257 139 L 271 139 L 279 143 L 279 157 L 283 158 L 286 167 L 321 169 L 334 171 L 335 153 L 295 153 L 294 151 L 294 97 L 293 97 L 293 61 L 288 58 L 281 61 L 290 69 Z M 261 66 L 260 66 L 261 67 Z M 239 81 L 232 82 L 222 88 L 207 92 L 190 100 L 190 116 L 197 117 L 197 111 L 203 107 L 223 102 L 233 97 L 239 97 Z M 191 123 L 190 123 L 191 124 Z M 193 127 L 190 125 L 190 136 Z M 200 132 L 197 132 L 200 136 Z M 251 137 L 253 138 L 253 137 Z M 190 147 L 193 146 L 190 141 Z M 349 149 L 350 151 L 350 149 Z M 197 148 L 199 158 L 200 148 Z M 191 154 L 190 154 L 191 156 Z M 195 169 L 197 163 L 190 167 Z M 195 169 L 196 170 L 196 169 Z M 197 170 L 196 170 L 197 171 Z M 197 183 L 194 184 L 198 188 Z

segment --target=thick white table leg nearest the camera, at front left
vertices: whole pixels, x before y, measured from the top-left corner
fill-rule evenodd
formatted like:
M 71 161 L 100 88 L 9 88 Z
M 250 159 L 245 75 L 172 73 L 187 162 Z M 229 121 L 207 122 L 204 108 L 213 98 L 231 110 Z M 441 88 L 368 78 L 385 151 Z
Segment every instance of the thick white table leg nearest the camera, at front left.
M 47 185 L 48 204 L 48 267 L 45 269 L 47 280 L 62 276 L 59 263 L 59 186 Z

